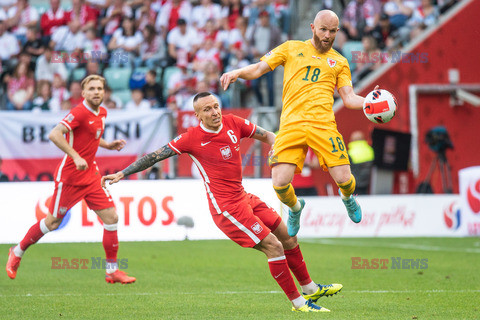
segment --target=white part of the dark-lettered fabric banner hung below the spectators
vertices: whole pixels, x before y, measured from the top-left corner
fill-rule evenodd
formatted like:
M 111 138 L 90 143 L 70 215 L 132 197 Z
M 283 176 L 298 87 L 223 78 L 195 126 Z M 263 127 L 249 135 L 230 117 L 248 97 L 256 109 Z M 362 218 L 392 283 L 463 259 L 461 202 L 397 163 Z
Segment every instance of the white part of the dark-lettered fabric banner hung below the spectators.
M 0 112 L 0 155 L 6 159 L 61 158 L 63 152 L 48 140 L 48 134 L 67 112 Z M 170 141 L 170 120 L 165 110 L 125 112 L 109 110 L 103 138 L 125 139 L 122 154 L 138 155 L 156 150 Z M 98 156 L 109 155 L 99 148 Z

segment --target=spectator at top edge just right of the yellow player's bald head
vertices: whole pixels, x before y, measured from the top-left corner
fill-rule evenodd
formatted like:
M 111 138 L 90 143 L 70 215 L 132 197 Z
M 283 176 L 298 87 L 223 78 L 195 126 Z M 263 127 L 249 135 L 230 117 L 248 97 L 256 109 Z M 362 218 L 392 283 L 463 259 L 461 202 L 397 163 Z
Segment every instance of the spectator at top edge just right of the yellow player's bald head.
M 352 0 L 343 12 L 343 26 L 337 40 L 344 42 L 345 37 L 348 40 L 361 40 L 364 34 L 375 28 L 379 18 L 380 4 L 377 0 Z

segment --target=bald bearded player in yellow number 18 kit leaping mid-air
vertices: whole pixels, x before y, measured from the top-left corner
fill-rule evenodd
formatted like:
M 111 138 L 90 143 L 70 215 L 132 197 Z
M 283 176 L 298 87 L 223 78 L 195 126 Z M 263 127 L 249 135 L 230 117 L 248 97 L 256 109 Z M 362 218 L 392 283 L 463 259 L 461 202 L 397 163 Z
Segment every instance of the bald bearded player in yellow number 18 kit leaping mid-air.
M 275 163 L 271 166 L 275 192 L 290 208 L 287 221 L 290 236 L 297 234 L 305 206 L 303 199 L 297 199 L 291 182 L 293 175 L 302 171 L 308 147 L 339 186 L 350 219 L 355 223 L 362 219 L 360 205 L 353 196 L 355 177 L 332 107 L 335 86 L 347 108 L 361 109 L 364 98 L 353 92 L 347 59 L 332 49 L 338 24 L 333 11 L 322 10 L 310 24 L 311 39 L 286 41 L 260 62 L 227 72 L 220 78 L 226 90 L 238 78 L 256 79 L 279 65 L 284 66 L 283 109 L 273 147 Z

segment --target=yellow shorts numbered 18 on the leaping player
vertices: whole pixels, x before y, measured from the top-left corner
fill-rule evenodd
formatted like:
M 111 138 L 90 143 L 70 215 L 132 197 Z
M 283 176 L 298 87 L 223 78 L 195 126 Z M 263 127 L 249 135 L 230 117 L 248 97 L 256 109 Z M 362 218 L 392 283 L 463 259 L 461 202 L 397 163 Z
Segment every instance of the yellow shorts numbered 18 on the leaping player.
M 350 164 L 347 147 L 336 127 L 324 129 L 310 125 L 282 128 L 275 138 L 269 164 L 292 163 L 297 166 L 295 173 L 300 173 L 308 147 L 315 152 L 324 171 L 328 171 L 329 167 Z

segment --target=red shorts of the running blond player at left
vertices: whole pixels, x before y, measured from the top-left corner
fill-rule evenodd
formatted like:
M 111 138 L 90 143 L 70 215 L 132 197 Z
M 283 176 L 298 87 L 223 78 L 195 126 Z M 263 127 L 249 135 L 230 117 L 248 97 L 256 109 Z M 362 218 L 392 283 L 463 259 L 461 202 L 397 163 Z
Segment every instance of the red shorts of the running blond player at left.
M 55 192 L 50 201 L 49 210 L 55 218 L 63 217 L 80 200 L 85 199 L 92 210 L 114 207 L 112 196 L 103 189 L 100 180 L 85 186 L 72 186 L 55 182 Z

